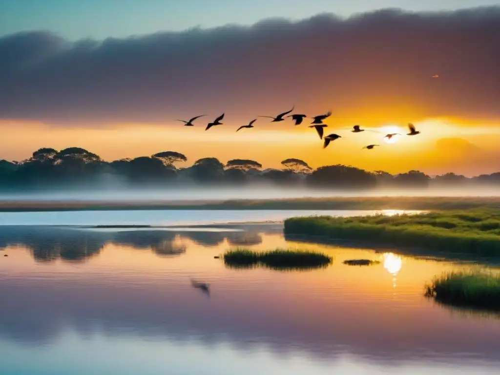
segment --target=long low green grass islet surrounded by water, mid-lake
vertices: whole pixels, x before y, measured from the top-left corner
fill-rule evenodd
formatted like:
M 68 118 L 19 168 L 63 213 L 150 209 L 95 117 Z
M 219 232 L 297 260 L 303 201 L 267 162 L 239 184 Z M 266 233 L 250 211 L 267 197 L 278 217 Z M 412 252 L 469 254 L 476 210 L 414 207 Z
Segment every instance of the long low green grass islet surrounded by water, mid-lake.
M 326 267 L 331 257 L 313 251 L 281 249 L 251 251 L 246 248 L 228 250 L 223 255 L 224 263 L 234 268 L 251 268 L 258 265 L 271 269 L 312 269 Z

